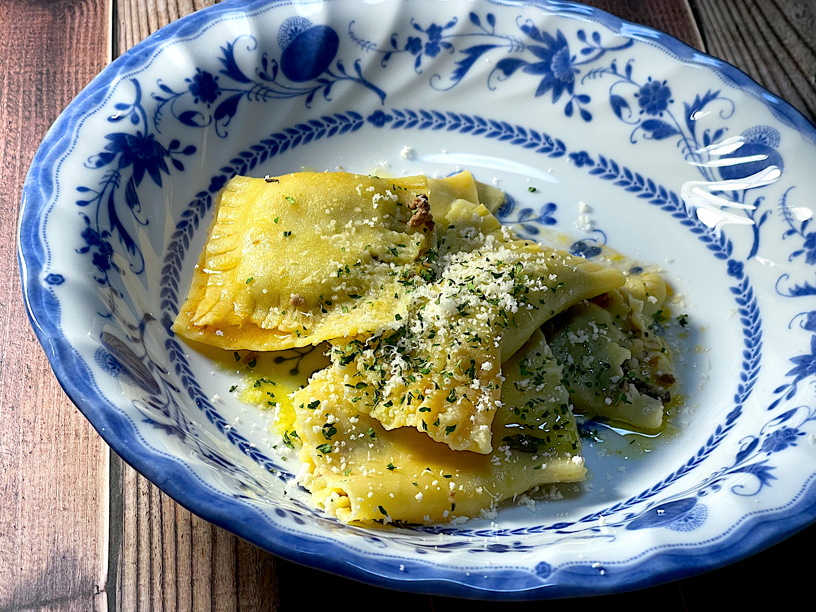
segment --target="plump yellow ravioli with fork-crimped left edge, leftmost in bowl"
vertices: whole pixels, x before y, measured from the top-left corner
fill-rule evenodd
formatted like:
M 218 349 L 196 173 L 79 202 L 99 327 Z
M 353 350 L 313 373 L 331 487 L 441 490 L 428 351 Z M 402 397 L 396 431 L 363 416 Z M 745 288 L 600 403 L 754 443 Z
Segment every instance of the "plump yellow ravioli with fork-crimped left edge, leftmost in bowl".
M 426 246 L 408 204 L 424 176 L 236 176 L 216 204 L 173 330 L 221 348 L 279 350 L 381 328 Z

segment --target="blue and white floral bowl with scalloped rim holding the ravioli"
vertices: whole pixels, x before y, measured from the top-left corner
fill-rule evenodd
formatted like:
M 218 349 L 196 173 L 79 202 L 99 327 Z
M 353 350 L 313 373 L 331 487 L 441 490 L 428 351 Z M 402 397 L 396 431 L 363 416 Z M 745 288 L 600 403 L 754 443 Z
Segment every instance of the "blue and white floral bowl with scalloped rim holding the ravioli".
M 71 399 L 206 520 L 389 588 L 616 592 L 816 517 L 814 153 L 814 126 L 737 69 L 572 2 L 223 2 L 141 42 L 60 115 L 25 182 L 20 271 Z M 343 525 L 170 324 L 231 176 L 457 164 L 495 178 L 503 222 L 527 236 L 663 265 L 698 345 L 680 432 L 638 459 L 586 444 L 588 483 L 535 512 Z

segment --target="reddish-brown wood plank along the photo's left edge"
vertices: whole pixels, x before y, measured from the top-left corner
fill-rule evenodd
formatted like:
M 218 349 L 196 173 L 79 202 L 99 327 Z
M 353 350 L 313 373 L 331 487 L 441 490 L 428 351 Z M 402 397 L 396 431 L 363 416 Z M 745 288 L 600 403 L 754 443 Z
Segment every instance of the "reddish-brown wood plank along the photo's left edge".
M 23 307 L 25 173 L 109 60 L 107 3 L 0 2 L 0 610 L 105 610 L 107 447 L 65 396 Z

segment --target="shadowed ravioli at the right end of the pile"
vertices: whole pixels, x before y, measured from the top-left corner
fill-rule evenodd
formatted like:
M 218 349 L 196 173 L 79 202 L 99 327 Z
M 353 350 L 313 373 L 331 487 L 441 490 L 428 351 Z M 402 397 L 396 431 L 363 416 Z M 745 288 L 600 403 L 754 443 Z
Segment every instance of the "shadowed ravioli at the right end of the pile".
M 570 308 L 545 326 L 576 410 L 655 430 L 676 383 L 661 334 L 666 285 L 658 274 Z

